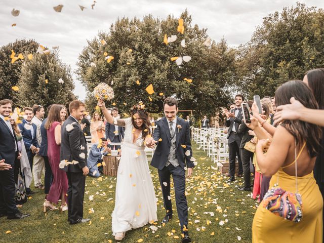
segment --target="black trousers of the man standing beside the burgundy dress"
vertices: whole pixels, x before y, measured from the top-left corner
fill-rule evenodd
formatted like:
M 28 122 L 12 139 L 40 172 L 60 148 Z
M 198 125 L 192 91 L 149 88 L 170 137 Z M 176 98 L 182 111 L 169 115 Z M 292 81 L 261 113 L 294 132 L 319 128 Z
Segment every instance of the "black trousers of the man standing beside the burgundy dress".
M 83 218 L 86 177 L 82 172 L 67 172 L 66 175 L 69 182 L 67 190 L 68 221 L 74 223 Z

